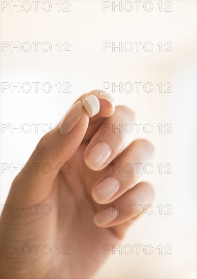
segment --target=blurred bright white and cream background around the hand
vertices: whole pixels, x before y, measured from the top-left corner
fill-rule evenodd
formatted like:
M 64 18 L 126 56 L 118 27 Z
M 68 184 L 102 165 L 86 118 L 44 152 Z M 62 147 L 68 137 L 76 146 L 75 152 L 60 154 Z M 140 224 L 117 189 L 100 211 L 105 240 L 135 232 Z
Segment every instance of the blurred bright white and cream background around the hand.
M 9 6 L 1 12 L 1 41 L 8 42 L 9 46 L 1 52 L 1 82 L 8 83 L 9 88 L 1 92 L 1 203 L 5 203 L 18 172 L 12 166 L 22 166 L 27 161 L 44 130 L 48 129 L 47 125 L 43 127 L 44 123 L 54 127 L 76 98 L 93 89 L 102 89 L 104 82 L 116 86 L 120 82 L 132 83 L 132 92 L 119 92 L 112 86 L 106 92 L 114 95 L 116 104 L 134 110 L 136 122 L 151 123 L 154 127 L 152 133 L 142 128 L 139 134 L 134 132 L 133 140 L 147 138 L 155 146 L 154 170 L 143 177 L 154 185 L 155 199 L 153 213 L 145 214 L 130 228 L 122 246 L 151 245 L 154 252 L 151 255 L 116 252 L 96 278 L 196 278 L 196 2 L 162 1 L 161 12 L 159 1 L 151 1 L 150 12 L 143 8 L 146 1 L 142 2 L 139 12 L 134 1 L 130 1 L 133 4 L 130 12 L 118 8 L 113 12 L 112 1 L 106 4 L 110 7 L 105 12 L 103 1 L 70 1 L 70 12 L 62 11 L 67 6 L 62 6 L 63 1 L 50 1 L 49 12 L 43 11 L 41 4 L 35 12 L 31 1 L 28 1 L 32 5 L 30 11 L 22 10 L 22 7 L 28 8 L 22 6 L 24 1 L 20 1 L 20 11 L 17 8 L 11 11 L 12 1 L 1 1 L 1 5 L 3 2 Z M 13 3 L 16 5 L 17 1 Z M 172 3 L 169 8 L 172 12 L 165 12 L 169 3 Z M 11 42 L 14 45 L 29 42 L 32 50 L 24 52 L 20 48 L 18 52 L 14 48 L 12 52 Z M 38 52 L 33 50 L 32 42 L 41 42 Z M 51 43 L 50 52 L 42 50 L 44 42 Z M 62 52 L 62 48 L 58 52 L 55 46 L 58 42 L 61 47 L 63 42 L 70 42 L 71 52 Z M 131 52 L 118 49 L 112 52 L 112 48 L 103 52 L 103 42 L 142 44 L 139 52 L 135 44 Z M 152 42 L 151 52 L 144 51 L 145 42 Z M 171 42 L 172 52 L 164 52 L 166 46 L 159 52 L 159 42 Z M 32 89 L 11 92 L 12 82 L 14 85 L 30 83 Z M 39 85 L 36 93 L 32 84 L 35 82 L 41 85 L 49 82 L 51 92 L 43 92 Z M 70 93 L 62 92 L 64 82 L 71 84 Z M 136 82 L 142 83 L 140 92 L 136 92 Z M 143 90 L 147 82 L 152 83 L 152 92 Z M 163 92 L 167 87 L 159 92 L 157 84 L 167 82 L 172 83 L 172 92 Z M 55 86 L 58 83 L 61 92 Z M 30 124 L 28 133 L 24 132 L 28 130 L 24 123 Z M 37 133 L 32 123 L 40 123 Z M 162 123 L 162 133 L 157 127 L 159 123 Z M 168 128 L 163 126 L 165 123 L 172 124 L 172 133 L 164 133 Z M 19 130 L 12 130 L 12 125 L 20 125 Z M 167 163 L 172 165 L 171 174 L 164 173 Z M 159 164 L 163 167 L 162 174 L 159 174 Z M 159 204 L 163 209 L 161 215 Z M 164 214 L 168 209 L 164 208 L 165 204 L 172 205 L 171 215 Z M 159 245 L 171 245 L 172 255 L 159 255 Z

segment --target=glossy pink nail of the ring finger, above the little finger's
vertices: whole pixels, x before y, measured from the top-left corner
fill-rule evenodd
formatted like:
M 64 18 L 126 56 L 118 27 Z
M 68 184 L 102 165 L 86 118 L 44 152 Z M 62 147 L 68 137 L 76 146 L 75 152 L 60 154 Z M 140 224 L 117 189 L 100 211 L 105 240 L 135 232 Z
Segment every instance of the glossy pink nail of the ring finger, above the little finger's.
M 120 189 L 120 183 L 113 177 L 103 180 L 92 191 L 92 196 L 97 203 L 104 203 L 113 197 Z

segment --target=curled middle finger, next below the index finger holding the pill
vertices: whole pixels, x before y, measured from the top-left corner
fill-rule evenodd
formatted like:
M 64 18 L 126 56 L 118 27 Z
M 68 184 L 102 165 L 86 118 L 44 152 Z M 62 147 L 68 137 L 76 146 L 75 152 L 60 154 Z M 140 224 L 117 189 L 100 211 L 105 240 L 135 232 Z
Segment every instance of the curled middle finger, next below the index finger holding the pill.
M 86 165 L 97 171 L 106 167 L 125 146 L 133 122 L 134 113 L 130 109 L 116 107 L 115 113 L 104 120 L 84 151 Z

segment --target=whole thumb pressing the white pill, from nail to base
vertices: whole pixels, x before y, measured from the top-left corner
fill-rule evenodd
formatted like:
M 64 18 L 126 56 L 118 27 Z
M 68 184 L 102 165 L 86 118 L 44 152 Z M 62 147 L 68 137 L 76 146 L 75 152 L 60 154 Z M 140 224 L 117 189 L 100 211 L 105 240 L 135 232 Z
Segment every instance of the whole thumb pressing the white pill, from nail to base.
M 83 141 L 88 123 L 89 116 L 78 101 L 65 114 L 59 126 L 41 138 L 15 178 L 9 196 L 25 202 L 45 199 L 51 192 L 58 171 Z

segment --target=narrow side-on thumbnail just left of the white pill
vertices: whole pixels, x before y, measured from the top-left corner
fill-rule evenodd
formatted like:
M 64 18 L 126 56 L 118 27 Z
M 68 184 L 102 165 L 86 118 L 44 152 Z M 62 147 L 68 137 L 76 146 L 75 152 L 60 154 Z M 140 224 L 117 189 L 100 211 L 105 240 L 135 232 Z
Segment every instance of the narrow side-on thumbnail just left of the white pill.
M 76 102 L 73 107 L 65 114 L 59 124 L 62 135 L 67 135 L 75 127 L 81 118 L 81 101 Z

